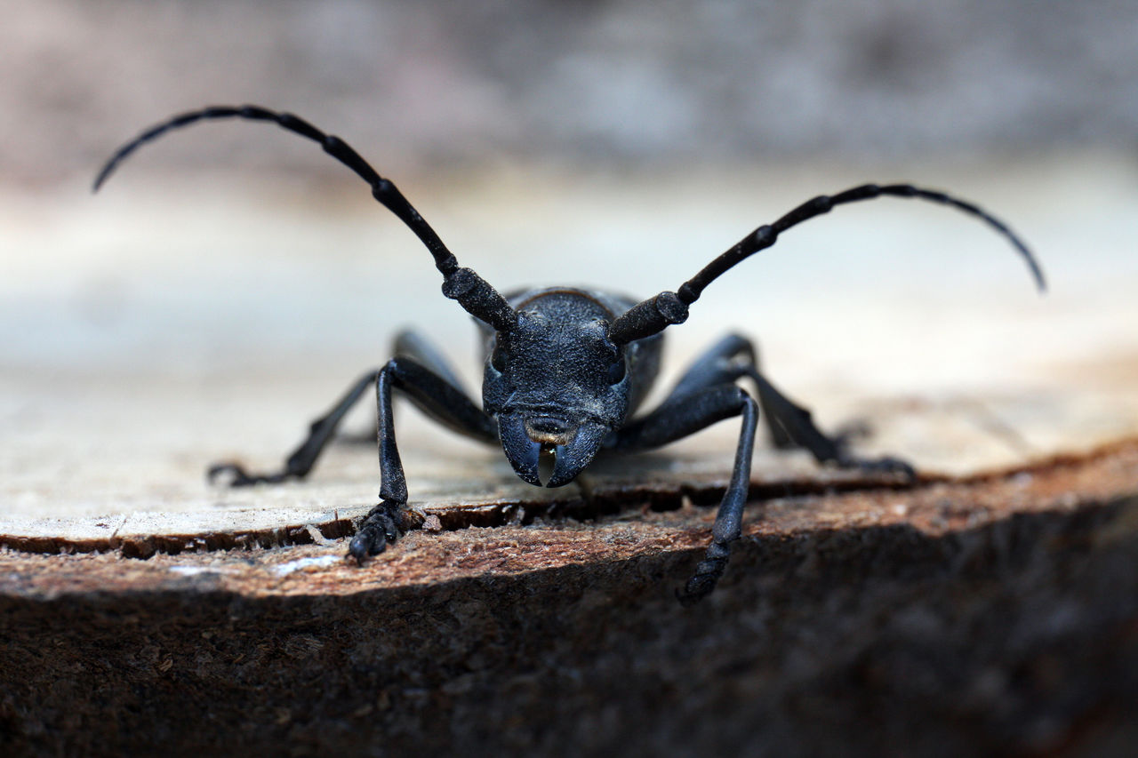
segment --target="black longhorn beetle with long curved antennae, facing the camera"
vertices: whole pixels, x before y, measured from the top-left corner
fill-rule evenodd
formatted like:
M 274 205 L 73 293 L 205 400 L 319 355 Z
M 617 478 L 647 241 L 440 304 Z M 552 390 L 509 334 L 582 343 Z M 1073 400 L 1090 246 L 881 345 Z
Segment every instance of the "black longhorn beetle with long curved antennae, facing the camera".
M 704 560 L 682 592 L 685 604 L 710 593 L 723 576 L 731 544 L 740 536 L 750 484 L 751 453 L 761 409 L 778 447 L 801 446 L 822 463 L 913 478 L 913 468 L 893 458 L 863 459 L 851 454 L 840 436 L 823 434 L 810 413 L 780 393 L 760 372 L 750 340 L 731 335 L 700 356 L 653 411 L 634 417 L 660 365 L 661 333 L 687 319 L 688 306 L 712 281 L 744 258 L 775 244 L 803 221 L 847 203 L 879 197 L 918 198 L 948 205 L 987 222 L 1024 258 L 1037 287 L 1044 275 L 1028 247 L 1001 221 L 982 208 L 943 192 L 912 184 L 863 184 L 807 200 L 772 224 L 764 224 L 676 291 L 636 303 L 600 289 L 551 287 L 526 289 L 508 297 L 470 269 L 459 266 L 435 230 L 389 180 L 380 176 L 338 137 L 325 134 L 288 113 L 258 106 L 215 106 L 184 113 L 127 142 L 99 172 L 94 189 L 141 145 L 199 121 L 247 118 L 271 122 L 320 143 L 324 151 L 358 174 L 372 196 L 413 231 L 443 274 L 443 294 L 459 302 L 484 331 L 486 344 L 481 407 L 461 389 L 440 354 L 413 332 L 401 333 L 395 356 L 369 371 L 327 414 L 312 422 L 308 437 L 270 473 L 249 473 L 238 463 L 209 468 L 213 480 L 231 477 L 231 486 L 279 483 L 308 475 L 348 410 L 376 386 L 380 503 L 363 519 L 348 552 L 363 562 L 384 551 L 406 528 L 407 487 L 395 444 L 391 393 L 399 390 L 436 421 L 459 434 L 501 444 L 519 477 L 543 484 L 539 463 L 552 462 L 546 487 L 560 487 L 580 473 L 602 450 L 636 452 L 666 445 L 723 419 L 740 417 L 739 446 L 731 480 L 711 529 Z M 736 382 L 749 379 L 757 397 Z

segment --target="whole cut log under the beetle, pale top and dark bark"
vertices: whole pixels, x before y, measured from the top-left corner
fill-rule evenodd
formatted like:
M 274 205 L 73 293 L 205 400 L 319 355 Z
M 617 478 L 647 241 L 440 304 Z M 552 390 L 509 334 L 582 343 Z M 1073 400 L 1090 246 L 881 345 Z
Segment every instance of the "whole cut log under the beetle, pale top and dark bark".
M 714 182 L 694 181 L 711 197 Z M 973 181 L 981 197 L 1006 189 L 999 172 Z M 17 321 L 0 365 L 0 747 L 1127 755 L 1138 723 L 1132 187 L 1085 198 L 1074 211 L 1095 223 L 1066 225 L 1069 196 L 1020 182 L 1005 197 L 1021 231 L 1042 238 L 1047 297 L 998 240 L 962 242 L 966 222 L 905 221 L 906 207 L 867 216 L 874 230 L 897 222 L 885 236 L 819 222 L 818 237 L 803 233 L 798 250 L 787 239 L 768 269 L 741 267 L 676 330 L 669 377 L 726 329 L 753 333 L 769 376 L 823 427 L 860 425 L 859 451 L 922 472 L 905 485 L 761 448 L 727 576 L 686 610 L 673 593 L 707 545 L 734 422 L 541 489 L 501 453 L 401 407 L 423 528 L 358 567 L 344 553 L 376 502 L 372 446 L 336 444 L 310 479 L 277 487 L 209 486 L 204 470 L 278 464 L 384 360 L 399 324 L 380 313 L 422 324 L 456 362 L 468 353 L 472 329 L 413 241 L 382 224 L 364 232 L 370 206 L 329 221 L 327 207 L 305 216 L 303 198 L 262 186 L 175 195 L 140 182 L 98 214 L 77 214 L 77 196 L 7 198 L 9 239 L 39 254 L 3 258 L 18 275 L 5 278 Z M 431 219 L 503 288 L 572 281 L 579 254 L 577 280 L 605 271 L 652 290 L 717 253 L 692 252 L 708 239 L 725 247 L 761 221 L 744 205 L 785 205 L 769 189 L 747 204 L 720 195 L 695 226 L 743 228 L 696 244 L 669 225 L 691 208 L 649 184 L 484 199 L 486 213 L 517 213 L 514 241 L 483 213 L 448 212 L 446 192 Z M 542 238 L 550 197 L 620 249 L 682 249 L 645 271 L 603 244 L 588 253 L 596 238 L 574 232 L 538 256 L 522 241 Z M 628 197 L 646 199 L 621 206 Z M 1088 234 L 1094 255 L 1079 247 Z M 916 238 L 921 255 L 881 252 Z M 324 259 L 318 239 L 333 250 Z M 361 239 L 399 255 L 364 258 L 352 252 Z M 850 269 L 842 255 L 802 262 L 827 250 Z M 369 277 L 381 288 L 355 287 Z M 770 278 L 795 286 L 748 285 Z M 473 361 L 460 370 L 476 386 Z

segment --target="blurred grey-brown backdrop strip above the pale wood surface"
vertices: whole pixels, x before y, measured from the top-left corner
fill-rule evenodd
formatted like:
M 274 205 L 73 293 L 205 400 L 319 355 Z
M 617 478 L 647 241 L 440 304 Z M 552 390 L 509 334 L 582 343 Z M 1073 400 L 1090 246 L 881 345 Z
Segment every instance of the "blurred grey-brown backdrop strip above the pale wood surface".
M 35 184 L 85 176 L 173 110 L 244 100 L 327 122 L 401 176 L 1138 147 L 1138 8 L 1118 0 L 5 7 L 0 168 Z M 332 173 L 299 155 L 214 132 L 149 165 Z

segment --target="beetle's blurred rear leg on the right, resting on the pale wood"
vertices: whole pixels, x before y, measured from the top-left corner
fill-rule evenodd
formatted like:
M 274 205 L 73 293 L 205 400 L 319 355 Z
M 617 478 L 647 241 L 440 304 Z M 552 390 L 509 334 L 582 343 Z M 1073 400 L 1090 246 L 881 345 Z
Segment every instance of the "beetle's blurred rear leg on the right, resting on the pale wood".
M 749 378 L 758 389 L 759 405 L 775 447 L 805 447 L 819 463 L 866 472 L 899 473 L 914 478 L 913 467 L 896 458 L 867 459 L 851 454 L 841 435 L 828 436 L 814 423 L 810 411 L 783 395 L 759 370 L 754 344 L 728 335 L 702 354 L 681 377 L 665 404 L 703 387 Z

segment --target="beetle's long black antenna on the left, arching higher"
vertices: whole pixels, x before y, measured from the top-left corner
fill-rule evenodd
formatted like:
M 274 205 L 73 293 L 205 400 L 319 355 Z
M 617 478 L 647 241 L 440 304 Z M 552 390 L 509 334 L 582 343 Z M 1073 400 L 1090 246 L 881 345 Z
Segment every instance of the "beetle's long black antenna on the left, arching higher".
M 422 244 L 427 246 L 427 249 L 435 258 L 435 267 L 445 277 L 443 282 L 444 295 L 457 300 L 459 305 L 465 308 L 468 313 L 490 324 L 497 331 L 509 330 L 517 322 L 518 316 L 513 312 L 513 308 L 505 302 L 505 298 L 470 269 L 459 267 L 457 259 L 447 249 L 446 245 L 443 244 L 438 234 L 435 233 L 435 230 L 419 215 L 414 206 L 403 197 L 403 193 L 390 180 L 380 176 L 347 142 L 335 134 L 325 134 L 308 122 L 290 113 L 275 113 L 261 106 L 246 105 L 211 106 L 200 110 L 179 114 L 160 124 L 151 126 L 118 148 L 102 166 L 102 170 L 99 171 L 92 190 L 96 192 L 99 191 L 99 188 L 110 178 L 110 174 L 118 167 L 118 164 L 142 145 L 158 139 L 168 131 L 189 126 L 199 121 L 216 118 L 246 118 L 249 121 L 272 122 L 295 134 L 318 142 L 324 149 L 324 153 L 343 163 L 368 182 L 371 186 L 372 197 L 398 216 L 422 240 Z

